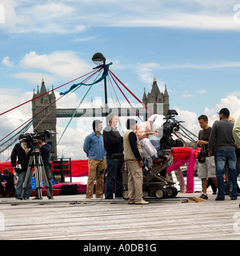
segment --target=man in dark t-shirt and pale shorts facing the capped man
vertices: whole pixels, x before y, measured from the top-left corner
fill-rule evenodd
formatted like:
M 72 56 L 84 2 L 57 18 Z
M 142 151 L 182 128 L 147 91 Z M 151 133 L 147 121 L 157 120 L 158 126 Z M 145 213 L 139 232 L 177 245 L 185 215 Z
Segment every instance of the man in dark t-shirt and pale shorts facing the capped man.
M 218 186 L 216 174 L 215 174 L 215 162 L 214 156 L 208 157 L 208 141 L 210 138 L 211 127 L 208 125 L 208 118 L 205 114 L 202 114 L 198 118 L 198 122 L 202 130 L 198 133 L 197 145 L 201 146 L 201 151 L 205 155 L 205 162 L 198 162 L 198 178 L 202 179 L 202 195 L 200 198 L 208 199 L 206 194 L 208 178 L 214 182 L 215 186 Z

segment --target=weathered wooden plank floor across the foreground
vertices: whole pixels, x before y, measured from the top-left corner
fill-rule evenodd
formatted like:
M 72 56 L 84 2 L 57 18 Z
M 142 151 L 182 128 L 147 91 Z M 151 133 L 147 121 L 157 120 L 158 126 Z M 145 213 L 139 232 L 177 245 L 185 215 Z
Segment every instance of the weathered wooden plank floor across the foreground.
M 186 202 L 199 194 L 178 194 L 178 198 L 150 200 L 146 206 L 128 205 L 123 199 L 86 200 L 84 195 L 58 196 L 54 200 L 0 202 L 2 239 L 81 240 L 179 240 L 240 239 L 240 199 L 215 202 Z M 47 202 L 44 204 L 44 202 Z M 78 202 L 71 204 L 70 202 Z M 2 219 L 4 230 L 2 230 Z M 239 224 L 239 225 L 238 225 Z

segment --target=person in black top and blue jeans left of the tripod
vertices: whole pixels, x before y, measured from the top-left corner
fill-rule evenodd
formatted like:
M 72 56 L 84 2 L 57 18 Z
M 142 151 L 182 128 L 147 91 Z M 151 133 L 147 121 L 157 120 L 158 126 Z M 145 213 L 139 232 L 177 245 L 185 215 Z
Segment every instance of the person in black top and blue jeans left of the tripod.
M 22 195 L 22 185 L 25 181 L 26 170 L 28 166 L 28 162 L 30 160 L 31 149 L 27 147 L 27 143 L 23 140 L 20 140 L 20 143 L 17 143 L 14 146 L 14 149 L 11 153 L 11 166 L 14 167 L 14 171 L 18 174 L 18 184 L 16 186 L 16 200 L 21 198 Z M 17 162 L 18 159 L 18 162 Z M 32 192 L 32 172 L 27 180 L 26 190 L 24 191 L 23 198 L 29 199 Z

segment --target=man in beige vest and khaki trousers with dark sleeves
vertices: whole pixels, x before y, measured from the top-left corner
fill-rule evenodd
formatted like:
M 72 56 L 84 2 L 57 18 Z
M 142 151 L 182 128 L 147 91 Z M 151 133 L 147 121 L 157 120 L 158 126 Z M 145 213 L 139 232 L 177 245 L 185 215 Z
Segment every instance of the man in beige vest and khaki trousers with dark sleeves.
M 142 149 L 138 137 L 134 133 L 137 121 L 133 118 L 126 120 L 126 133 L 123 135 L 124 160 L 128 170 L 129 204 L 148 204 L 142 198 Z

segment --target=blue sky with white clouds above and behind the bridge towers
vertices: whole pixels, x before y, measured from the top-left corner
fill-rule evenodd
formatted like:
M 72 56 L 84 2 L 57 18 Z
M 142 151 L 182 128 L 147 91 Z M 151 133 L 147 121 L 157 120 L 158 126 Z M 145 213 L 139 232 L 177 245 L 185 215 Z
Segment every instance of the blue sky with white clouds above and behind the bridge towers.
M 144 88 L 150 92 L 154 78 L 162 92 L 166 85 L 170 109 L 198 134 L 201 114 L 210 125 L 222 107 L 234 118 L 240 115 L 239 32 L 239 0 L 0 0 L 1 112 L 32 98 L 42 78 L 51 90 L 90 72 L 92 56 L 101 52 L 138 98 Z M 71 85 L 56 90 L 57 98 Z M 67 95 L 57 107 L 76 108 L 86 90 Z M 110 92 L 108 97 L 110 102 Z M 104 102 L 103 83 L 82 104 L 91 101 Z M 29 118 L 30 103 L 0 115 L 0 137 Z M 60 156 L 86 158 L 82 143 L 91 126 L 79 119 L 62 137 Z M 68 122 L 58 118 L 58 138 Z M 0 161 L 6 158 L 7 153 Z

